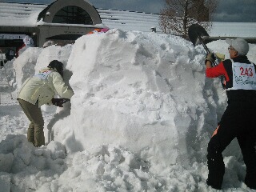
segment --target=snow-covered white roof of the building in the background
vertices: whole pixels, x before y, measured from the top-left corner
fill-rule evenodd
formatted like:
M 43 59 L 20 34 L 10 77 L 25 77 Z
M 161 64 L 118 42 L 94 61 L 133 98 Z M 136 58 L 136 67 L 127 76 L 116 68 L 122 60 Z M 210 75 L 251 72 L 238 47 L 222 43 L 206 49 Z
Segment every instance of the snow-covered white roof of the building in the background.
M 47 5 L 21 4 L 0 2 L 0 26 L 38 26 L 44 25 L 44 22 L 37 22 L 38 14 L 46 8 Z M 109 28 L 118 28 L 121 30 L 138 30 L 143 32 L 151 31 L 151 27 L 156 27 L 159 32 L 158 14 L 149 14 L 128 10 L 106 10 L 97 9 L 102 18 L 102 24 Z M 47 24 L 58 25 L 58 24 Z M 97 26 L 95 26 L 97 27 Z M 228 29 L 229 34 L 226 34 Z M 233 33 L 230 34 L 230 29 Z M 255 22 L 214 22 L 210 31 L 210 36 L 214 37 L 237 37 L 243 35 L 243 38 L 255 38 Z

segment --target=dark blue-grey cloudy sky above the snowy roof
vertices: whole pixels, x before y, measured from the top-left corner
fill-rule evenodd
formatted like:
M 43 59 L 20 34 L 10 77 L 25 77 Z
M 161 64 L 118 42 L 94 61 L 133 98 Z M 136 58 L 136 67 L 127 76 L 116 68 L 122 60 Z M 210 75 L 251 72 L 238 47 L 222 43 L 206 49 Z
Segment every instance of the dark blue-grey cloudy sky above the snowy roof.
M 2 2 L 34 2 L 49 4 L 53 0 L 0 0 Z M 72 1 L 72 0 L 70 0 Z M 165 0 L 90 0 L 96 8 L 135 10 L 156 13 L 164 8 Z M 215 22 L 256 22 L 256 0 L 220 0 L 214 14 Z M 256 33 L 256 32 L 255 32 Z

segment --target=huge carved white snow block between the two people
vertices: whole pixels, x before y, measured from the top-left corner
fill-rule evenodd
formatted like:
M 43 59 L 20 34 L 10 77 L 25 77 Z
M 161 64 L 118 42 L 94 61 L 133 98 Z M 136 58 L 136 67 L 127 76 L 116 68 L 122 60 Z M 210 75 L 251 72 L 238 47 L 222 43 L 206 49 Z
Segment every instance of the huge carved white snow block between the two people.
M 205 87 L 203 59 L 190 42 L 154 33 L 111 30 L 79 38 L 67 64 L 72 108 L 54 127 L 54 139 L 71 151 L 127 147 L 164 168 L 202 159 L 207 129 L 217 125 L 216 104 L 209 110 L 206 102 L 214 93 Z

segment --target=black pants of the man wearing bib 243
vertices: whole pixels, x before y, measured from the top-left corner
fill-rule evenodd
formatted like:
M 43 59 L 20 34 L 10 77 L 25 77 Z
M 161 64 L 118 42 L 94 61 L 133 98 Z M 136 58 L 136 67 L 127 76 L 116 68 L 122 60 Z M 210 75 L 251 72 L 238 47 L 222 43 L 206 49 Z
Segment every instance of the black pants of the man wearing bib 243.
M 238 139 L 246 164 L 245 183 L 256 189 L 256 104 L 249 102 L 232 102 L 222 116 L 218 130 L 208 144 L 208 179 L 207 184 L 220 190 L 222 187 L 225 165 L 222 151 L 234 139 Z

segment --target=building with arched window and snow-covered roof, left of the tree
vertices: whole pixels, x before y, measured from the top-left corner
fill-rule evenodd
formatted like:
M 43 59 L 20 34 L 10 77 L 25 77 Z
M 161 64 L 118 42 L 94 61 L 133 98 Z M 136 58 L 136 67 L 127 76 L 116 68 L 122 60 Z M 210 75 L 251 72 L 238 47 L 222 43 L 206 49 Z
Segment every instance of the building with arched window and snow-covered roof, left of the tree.
M 143 32 L 151 32 L 152 27 L 160 29 L 158 14 L 95 9 L 88 0 L 57 0 L 50 5 L 0 2 L 3 53 L 10 48 L 18 50 L 26 35 L 33 38 L 34 46 L 42 47 L 48 40 L 65 45 L 95 28 L 105 27 Z

